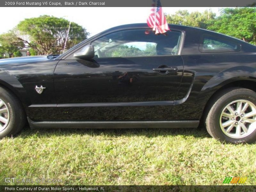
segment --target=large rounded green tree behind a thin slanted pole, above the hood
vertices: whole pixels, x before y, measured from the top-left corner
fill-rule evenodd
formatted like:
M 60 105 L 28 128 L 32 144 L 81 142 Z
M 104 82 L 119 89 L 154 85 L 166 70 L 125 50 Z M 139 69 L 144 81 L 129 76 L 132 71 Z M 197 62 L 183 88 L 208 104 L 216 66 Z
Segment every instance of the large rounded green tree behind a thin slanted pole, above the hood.
M 43 15 L 21 21 L 16 31 L 16 36 L 28 48 L 39 55 L 61 53 L 68 32 L 69 21 L 63 18 Z M 86 39 L 89 34 L 82 26 L 71 22 L 66 48 L 69 49 Z

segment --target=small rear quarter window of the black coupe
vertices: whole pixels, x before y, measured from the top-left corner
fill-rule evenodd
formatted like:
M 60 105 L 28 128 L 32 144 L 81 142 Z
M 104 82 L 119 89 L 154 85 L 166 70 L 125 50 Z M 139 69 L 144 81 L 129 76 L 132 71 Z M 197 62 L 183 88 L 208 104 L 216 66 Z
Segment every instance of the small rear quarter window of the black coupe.
M 215 36 L 203 35 L 199 46 L 200 52 L 236 52 L 241 45 Z

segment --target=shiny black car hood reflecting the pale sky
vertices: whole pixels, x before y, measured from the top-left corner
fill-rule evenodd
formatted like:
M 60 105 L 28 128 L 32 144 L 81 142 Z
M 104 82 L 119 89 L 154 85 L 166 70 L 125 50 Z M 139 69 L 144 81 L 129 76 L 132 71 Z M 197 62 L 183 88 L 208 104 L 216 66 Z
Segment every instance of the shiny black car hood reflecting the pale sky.
M 9 59 L 0 59 L 1 64 L 8 64 L 8 63 L 23 63 L 23 62 L 33 62 L 33 61 L 44 61 L 49 60 L 47 59 L 47 55 L 40 55 L 40 56 L 27 56 L 27 57 L 15 57 Z

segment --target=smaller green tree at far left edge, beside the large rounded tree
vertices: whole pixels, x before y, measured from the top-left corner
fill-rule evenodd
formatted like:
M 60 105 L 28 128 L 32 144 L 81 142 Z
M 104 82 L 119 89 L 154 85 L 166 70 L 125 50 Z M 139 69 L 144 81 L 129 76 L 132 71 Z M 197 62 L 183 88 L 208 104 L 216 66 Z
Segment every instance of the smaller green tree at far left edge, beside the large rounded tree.
M 12 31 L 0 35 L 0 44 L 2 52 L 7 52 L 9 57 L 24 47 L 24 43 Z

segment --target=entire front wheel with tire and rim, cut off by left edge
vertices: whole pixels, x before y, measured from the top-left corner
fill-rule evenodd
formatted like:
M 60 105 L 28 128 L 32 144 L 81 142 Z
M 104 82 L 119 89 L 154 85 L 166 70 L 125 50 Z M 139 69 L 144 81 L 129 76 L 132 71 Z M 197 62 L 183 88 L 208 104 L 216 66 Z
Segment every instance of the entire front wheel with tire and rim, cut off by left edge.
M 0 87 L 0 138 L 20 132 L 25 119 L 23 107 L 17 97 Z

